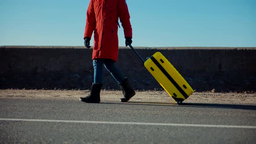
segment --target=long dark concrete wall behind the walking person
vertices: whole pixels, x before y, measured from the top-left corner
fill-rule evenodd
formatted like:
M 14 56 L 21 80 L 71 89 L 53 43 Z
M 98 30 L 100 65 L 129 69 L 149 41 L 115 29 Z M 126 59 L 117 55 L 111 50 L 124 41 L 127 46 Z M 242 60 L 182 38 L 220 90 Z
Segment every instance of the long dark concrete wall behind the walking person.
M 146 59 L 161 52 L 197 92 L 256 92 L 256 48 L 136 48 Z M 0 46 L 0 88 L 89 89 L 92 49 L 60 46 Z M 136 90 L 163 90 L 129 48 L 117 67 Z M 105 71 L 104 89 L 119 89 Z

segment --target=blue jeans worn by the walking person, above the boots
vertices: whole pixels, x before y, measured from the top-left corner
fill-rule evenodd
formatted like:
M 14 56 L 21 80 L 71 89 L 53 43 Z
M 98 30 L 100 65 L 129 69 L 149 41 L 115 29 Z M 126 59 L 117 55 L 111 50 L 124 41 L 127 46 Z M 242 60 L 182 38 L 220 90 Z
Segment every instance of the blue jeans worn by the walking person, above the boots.
M 102 66 L 110 72 L 110 74 L 114 77 L 114 79 L 118 83 L 122 83 L 125 77 L 122 73 L 115 67 L 114 61 L 111 59 L 94 59 L 93 60 L 93 67 L 94 67 L 94 83 L 102 83 L 103 79 L 103 68 Z

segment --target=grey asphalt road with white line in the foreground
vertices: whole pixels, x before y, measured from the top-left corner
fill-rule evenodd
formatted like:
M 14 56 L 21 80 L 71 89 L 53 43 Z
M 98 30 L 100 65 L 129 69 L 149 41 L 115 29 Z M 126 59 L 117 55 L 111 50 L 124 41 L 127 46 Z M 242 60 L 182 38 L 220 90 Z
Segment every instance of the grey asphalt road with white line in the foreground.
M 256 105 L 2 97 L 0 143 L 256 144 Z

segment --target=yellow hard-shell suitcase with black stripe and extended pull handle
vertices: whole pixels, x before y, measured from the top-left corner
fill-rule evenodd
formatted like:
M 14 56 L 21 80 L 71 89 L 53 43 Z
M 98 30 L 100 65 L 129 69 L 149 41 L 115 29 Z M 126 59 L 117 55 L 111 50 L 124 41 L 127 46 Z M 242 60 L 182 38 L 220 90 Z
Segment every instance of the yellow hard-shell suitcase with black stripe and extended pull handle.
M 139 56 L 138 52 L 128 44 L 131 49 Z M 139 56 L 144 66 L 151 75 L 159 82 L 164 90 L 177 102 L 178 105 L 187 99 L 194 90 L 181 76 L 181 74 L 174 68 L 174 66 L 161 54 L 156 52 L 153 56 L 144 61 Z

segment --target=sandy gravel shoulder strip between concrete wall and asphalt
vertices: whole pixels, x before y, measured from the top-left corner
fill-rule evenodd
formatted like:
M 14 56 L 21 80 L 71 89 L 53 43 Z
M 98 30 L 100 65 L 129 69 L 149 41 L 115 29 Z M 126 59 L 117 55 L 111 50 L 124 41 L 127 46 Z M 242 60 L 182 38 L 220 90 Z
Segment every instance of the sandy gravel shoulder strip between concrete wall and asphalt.
M 77 99 L 89 94 L 88 91 L 79 90 L 0 90 L 0 98 L 47 98 L 47 99 Z M 121 91 L 101 91 L 101 102 L 119 102 Z M 173 99 L 165 91 L 143 91 L 136 92 L 136 95 L 129 102 L 175 104 Z M 256 105 L 255 93 L 216 93 L 216 92 L 194 92 L 184 103 L 202 104 L 240 104 Z

